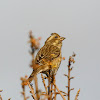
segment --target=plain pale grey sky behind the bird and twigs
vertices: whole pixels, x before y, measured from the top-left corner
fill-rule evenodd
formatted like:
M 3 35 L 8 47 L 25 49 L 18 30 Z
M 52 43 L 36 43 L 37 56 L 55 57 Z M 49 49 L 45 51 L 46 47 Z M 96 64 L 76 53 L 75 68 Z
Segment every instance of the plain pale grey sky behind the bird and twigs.
M 0 0 L 0 89 L 4 100 L 23 100 L 20 77 L 32 69 L 29 31 L 42 37 L 41 47 L 51 33 L 66 37 L 62 61 L 56 75 L 59 89 L 67 91 L 68 58 L 76 53 L 71 73 L 71 100 L 100 99 L 100 1 L 99 0 Z M 40 74 L 39 87 L 42 88 Z M 27 95 L 29 89 L 27 87 Z M 30 98 L 29 100 L 32 100 Z M 59 96 L 58 100 L 62 100 Z

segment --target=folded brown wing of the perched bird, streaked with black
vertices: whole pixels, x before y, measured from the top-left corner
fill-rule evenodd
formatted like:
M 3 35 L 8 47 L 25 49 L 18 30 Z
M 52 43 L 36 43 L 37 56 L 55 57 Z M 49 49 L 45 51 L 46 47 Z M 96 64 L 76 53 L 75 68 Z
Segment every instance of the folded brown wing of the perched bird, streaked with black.
M 44 45 L 36 55 L 35 63 L 43 64 L 44 61 L 51 61 L 60 55 L 60 49 L 54 45 Z

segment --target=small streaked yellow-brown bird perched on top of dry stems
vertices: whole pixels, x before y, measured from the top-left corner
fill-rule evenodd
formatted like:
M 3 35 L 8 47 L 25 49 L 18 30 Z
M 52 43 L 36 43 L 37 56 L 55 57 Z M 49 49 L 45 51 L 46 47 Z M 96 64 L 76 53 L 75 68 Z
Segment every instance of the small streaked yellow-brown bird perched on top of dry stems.
M 35 57 L 35 67 L 28 78 L 30 83 L 39 73 L 46 74 L 47 77 L 56 75 L 62 60 L 61 48 L 64 39 L 65 37 L 61 37 L 57 33 L 51 33 L 47 38 L 44 46 L 40 48 Z

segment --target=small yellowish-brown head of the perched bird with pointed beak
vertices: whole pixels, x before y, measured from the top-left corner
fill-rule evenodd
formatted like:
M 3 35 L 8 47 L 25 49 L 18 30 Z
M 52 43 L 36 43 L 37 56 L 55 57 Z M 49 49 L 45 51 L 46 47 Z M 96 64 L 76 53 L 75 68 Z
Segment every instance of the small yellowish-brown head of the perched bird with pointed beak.
M 61 47 L 64 39 L 65 37 L 61 37 L 57 33 L 52 33 L 51 36 L 46 40 L 45 44 L 50 43 L 51 45 Z

